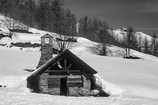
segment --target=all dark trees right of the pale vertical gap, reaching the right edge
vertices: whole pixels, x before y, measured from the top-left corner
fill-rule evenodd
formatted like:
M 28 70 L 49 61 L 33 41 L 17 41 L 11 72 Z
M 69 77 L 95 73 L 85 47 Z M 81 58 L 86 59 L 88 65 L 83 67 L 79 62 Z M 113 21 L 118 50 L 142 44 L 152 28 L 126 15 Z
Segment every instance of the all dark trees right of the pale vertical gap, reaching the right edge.
M 102 44 L 101 55 L 107 55 L 106 46 L 113 44 L 125 48 L 125 57 L 127 58 L 132 57 L 130 49 L 158 56 L 158 40 L 156 34 L 151 36 L 151 40 L 147 37 L 142 38 L 143 36 L 138 37 L 133 27 L 129 26 L 125 30 L 127 34 L 124 36 L 124 40 L 120 42 L 111 35 L 112 33 L 109 33 L 111 29 L 105 21 L 85 16 L 80 18 L 79 23 L 80 35 Z

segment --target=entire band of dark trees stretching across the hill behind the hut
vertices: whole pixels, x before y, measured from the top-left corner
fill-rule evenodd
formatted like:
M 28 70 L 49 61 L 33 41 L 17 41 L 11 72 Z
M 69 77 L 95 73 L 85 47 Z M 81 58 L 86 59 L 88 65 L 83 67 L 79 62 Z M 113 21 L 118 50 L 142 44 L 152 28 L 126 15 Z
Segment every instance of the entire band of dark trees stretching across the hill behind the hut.
M 136 38 L 132 27 L 127 28 L 127 37 L 120 42 L 109 33 L 110 27 L 105 21 L 85 16 L 79 19 L 79 33 L 76 33 L 77 19 L 63 5 L 61 0 L 38 0 L 38 4 L 34 0 L 0 0 L 0 12 L 13 18 L 13 23 L 15 19 L 31 27 L 58 33 L 63 41 L 67 39 L 62 35 L 79 35 L 100 42 L 102 55 L 106 55 L 107 44 L 113 44 L 124 47 L 127 57 L 130 49 L 158 56 L 156 35 L 152 35 L 151 43 L 145 38 L 142 45 L 142 39 Z

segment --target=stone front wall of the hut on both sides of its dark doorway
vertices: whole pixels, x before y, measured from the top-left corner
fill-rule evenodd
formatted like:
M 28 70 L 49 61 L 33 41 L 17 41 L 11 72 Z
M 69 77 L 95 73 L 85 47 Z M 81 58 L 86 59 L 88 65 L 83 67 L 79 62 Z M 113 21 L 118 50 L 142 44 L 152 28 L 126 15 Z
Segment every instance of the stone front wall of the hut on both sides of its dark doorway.
M 40 75 L 39 88 L 41 93 L 47 93 L 52 95 L 60 95 L 60 79 L 64 76 L 49 75 L 43 73 Z M 53 87 L 48 86 L 48 79 L 50 79 Z M 53 80 L 54 79 L 54 80 Z M 69 96 L 88 96 L 91 91 L 91 80 L 82 75 L 83 86 L 81 87 L 67 87 Z

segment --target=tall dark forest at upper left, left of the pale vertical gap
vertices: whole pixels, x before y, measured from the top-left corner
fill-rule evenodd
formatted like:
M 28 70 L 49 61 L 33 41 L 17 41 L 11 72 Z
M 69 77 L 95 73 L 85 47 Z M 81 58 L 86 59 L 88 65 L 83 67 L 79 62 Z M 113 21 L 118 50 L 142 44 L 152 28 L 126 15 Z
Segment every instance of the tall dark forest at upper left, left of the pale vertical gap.
M 59 34 L 75 34 L 76 17 L 61 0 L 0 0 L 0 12 L 24 24 Z

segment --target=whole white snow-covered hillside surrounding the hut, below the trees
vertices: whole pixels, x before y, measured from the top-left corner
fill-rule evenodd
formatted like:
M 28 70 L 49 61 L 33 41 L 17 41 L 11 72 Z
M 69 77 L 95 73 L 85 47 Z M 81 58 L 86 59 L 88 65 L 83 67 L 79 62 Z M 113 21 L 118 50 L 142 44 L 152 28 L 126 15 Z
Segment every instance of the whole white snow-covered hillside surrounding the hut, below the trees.
M 158 104 L 158 58 L 135 50 L 131 53 L 140 59 L 124 59 L 124 48 L 108 45 L 108 56 L 98 55 L 100 43 L 83 37 L 70 50 L 92 66 L 98 85 L 111 96 L 105 97 L 64 97 L 30 93 L 26 78 L 35 69 L 40 59 L 40 48 L 8 46 L 11 43 L 38 43 L 48 32 L 29 28 L 31 33 L 14 33 L 13 38 L 0 40 L 0 105 L 157 105 Z M 117 37 L 123 35 L 119 31 Z M 121 33 L 121 34 L 120 34 Z M 57 34 L 53 33 L 57 36 Z M 149 37 L 140 33 L 141 37 Z M 150 39 L 150 37 L 149 37 Z M 61 101 L 62 100 L 62 101 Z

